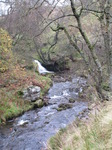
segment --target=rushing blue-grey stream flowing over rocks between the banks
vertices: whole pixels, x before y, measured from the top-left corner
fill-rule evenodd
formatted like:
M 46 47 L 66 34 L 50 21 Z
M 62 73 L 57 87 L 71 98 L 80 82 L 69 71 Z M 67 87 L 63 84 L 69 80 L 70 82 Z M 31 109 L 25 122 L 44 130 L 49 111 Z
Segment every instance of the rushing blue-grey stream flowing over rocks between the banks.
M 57 111 L 61 103 L 78 98 L 86 81 L 74 78 L 71 82 L 54 83 L 48 92 L 49 105 L 26 112 L 0 128 L 0 150 L 43 150 L 47 140 L 59 129 L 66 127 L 87 108 L 87 102 L 74 102 L 70 109 Z M 20 121 L 26 121 L 24 126 Z

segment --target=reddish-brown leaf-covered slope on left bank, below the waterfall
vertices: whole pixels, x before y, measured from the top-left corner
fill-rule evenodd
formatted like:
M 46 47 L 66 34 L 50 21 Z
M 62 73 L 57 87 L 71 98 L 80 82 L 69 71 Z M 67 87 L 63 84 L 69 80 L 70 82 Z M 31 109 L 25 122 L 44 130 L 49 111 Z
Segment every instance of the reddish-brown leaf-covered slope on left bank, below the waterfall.
M 7 91 L 18 90 L 29 85 L 39 86 L 44 89 L 46 81 L 29 74 L 24 68 L 16 64 L 11 70 L 0 74 L 0 87 L 5 87 Z

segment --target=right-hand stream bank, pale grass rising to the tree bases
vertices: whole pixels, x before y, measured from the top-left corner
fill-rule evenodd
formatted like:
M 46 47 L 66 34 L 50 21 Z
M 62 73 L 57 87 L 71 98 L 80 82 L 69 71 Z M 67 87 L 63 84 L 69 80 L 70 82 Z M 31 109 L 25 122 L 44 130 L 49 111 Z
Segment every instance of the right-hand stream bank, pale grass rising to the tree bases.
M 86 78 L 85 71 L 82 73 L 79 71 L 78 75 Z M 47 150 L 112 149 L 112 103 L 111 101 L 100 102 L 90 83 L 83 94 L 79 95 L 80 98 L 89 102 L 88 109 L 80 113 L 73 123 L 51 137 Z M 105 92 L 110 95 L 107 91 Z M 109 99 L 111 100 L 110 96 Z

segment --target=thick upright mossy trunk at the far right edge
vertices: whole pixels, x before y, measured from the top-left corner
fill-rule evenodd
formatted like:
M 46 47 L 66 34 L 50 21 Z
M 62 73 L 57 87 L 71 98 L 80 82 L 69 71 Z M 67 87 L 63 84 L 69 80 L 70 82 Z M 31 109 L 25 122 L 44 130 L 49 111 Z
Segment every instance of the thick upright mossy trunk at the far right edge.
M 112 48 L 111 48 L 111 4 L 110 0 L 99 0 L 99 7 L 101 13 L 99 21 L 101 26 L 101 32 L 104 39 L 104 48 L 106 53 L 106 64 L 107 64 L 107 73 L 109 77 L 109 86 L 112 90 Z

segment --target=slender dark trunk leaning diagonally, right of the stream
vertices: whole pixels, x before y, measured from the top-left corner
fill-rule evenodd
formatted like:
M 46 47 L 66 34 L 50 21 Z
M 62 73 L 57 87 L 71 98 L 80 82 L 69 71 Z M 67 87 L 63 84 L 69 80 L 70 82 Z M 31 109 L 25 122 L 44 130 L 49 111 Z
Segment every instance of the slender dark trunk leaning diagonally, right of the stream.
M 100 63 L 100 61 L 99 61 L 99 59 L 95 53 L 94 46 L 89 41 L 89 38 L 87 37 L 86 33 L 84 32 L 84 30 L 82 28 L 82 24 L 81 24 L 81 20 L 80 20 L 81 10 L 80 10 L 80 13 L 78 13 L 76 10 L 74 0 L 70 0 L 70 2 L 71 2 L 71 8 L 72 8 L 73 15 L 74 15 L 74 17 L 77 21 L 77 24 L 78 24 L 79 32 L 82 35 L 82 38 L 84 39 L 86 45 L 88 46 L 89 52 L 91 54 L 91 57 L 93 59 L 93 62 L 94 62 L 95 68 L 96 68 L 95 70 L 97 72 L 97 79 L 96 79 L 96 77 L 94 77 L 94 71 L 91 70 L 91 75 L 92 75 L 93 79 L 95 79 L 95 82 L 96 82 L 96 90 L 100 94 L 100 97 L 103 98 L 103 93 L 102 93 L 102 89 L 101 89 L 101 86 L 102 86 L 102 66 L 101 66 L 101 63 Z M 89 65 L 89 67 L 91 67 L 91 66 Z

